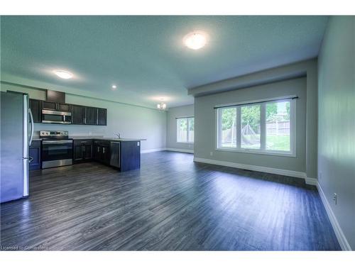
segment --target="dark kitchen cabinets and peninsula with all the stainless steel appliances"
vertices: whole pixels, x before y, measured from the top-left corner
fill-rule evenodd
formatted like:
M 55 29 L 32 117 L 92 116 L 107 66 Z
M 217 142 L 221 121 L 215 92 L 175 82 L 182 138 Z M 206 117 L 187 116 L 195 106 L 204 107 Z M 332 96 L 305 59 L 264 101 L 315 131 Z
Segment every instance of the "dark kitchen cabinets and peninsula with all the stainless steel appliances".
M 141 141 L 146 139 L 121 138 L 120 133 L 115 133 L 114 137 L 71 135 L 66 130 L 71 124 L 107 126 L 107 109 L 67 104 L 64 92 L 45 90 L 45 93 L 43 101 L 30 99 L 21 92 L 1 92 L 1 180 L 4 181 L 1 203 L 30 194 L 28 170 L 91 161 L 114 167 L 119 172 L 140 168 Z M 65 130 L 35 131 L 35 123 L 57 124 Z M 18 139 L 23 142 L 21 146 Z M 17 148 L 13 148 L 14 143 Z M 21 155 L 23 167 L 15 170 L 13 162 Z

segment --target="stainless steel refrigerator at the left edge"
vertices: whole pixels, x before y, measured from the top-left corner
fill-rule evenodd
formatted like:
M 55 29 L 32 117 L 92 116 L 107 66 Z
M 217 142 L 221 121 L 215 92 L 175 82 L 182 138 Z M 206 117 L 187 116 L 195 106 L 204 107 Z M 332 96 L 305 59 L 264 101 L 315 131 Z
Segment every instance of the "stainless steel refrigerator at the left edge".
M 33 118 L 28 94 L 1 92 L 0 201 L 28 196 L 28 156 L 33 136 Z

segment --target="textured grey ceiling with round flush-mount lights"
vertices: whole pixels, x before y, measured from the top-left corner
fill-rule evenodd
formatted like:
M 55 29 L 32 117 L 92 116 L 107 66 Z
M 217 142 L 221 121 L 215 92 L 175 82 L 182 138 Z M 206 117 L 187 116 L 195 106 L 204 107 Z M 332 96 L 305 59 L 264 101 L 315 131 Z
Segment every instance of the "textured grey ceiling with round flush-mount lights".
M 327 19 L 1 16 L 1 74 L 140 106 L 153 107 L 162 96 L 181 106 L 193 103 L 187 88 L 316 57 Z M 209 34 L 201 50 L 182 43 L 194 30 Z M 55 69 L 75 78 L 58 79 Z

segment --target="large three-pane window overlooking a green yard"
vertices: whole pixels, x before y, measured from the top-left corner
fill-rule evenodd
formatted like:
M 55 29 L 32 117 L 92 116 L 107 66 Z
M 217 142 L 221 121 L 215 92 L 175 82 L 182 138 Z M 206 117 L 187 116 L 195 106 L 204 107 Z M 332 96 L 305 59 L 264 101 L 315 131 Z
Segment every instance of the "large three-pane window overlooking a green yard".
M 295 155 L 295 99 L 217 109 L 217 149 Z

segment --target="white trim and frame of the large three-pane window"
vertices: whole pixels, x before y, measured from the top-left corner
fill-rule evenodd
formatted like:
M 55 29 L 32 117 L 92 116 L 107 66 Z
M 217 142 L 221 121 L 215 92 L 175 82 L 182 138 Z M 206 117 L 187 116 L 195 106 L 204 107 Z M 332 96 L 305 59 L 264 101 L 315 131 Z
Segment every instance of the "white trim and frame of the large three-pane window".
M 282 151 L 282 150 L 266 150 L 265 147 L 263 147 L 263 145 L 266 145 L 266 123 L 265 123 L 265 119 L 266 119 L 266 104 L 268 104 L 269 102 L 272 101 L 282 101 L 283 99 L 285 99 L 285 97 L 278 97 L 278 98 L 273 98 L 273 99 L 265 99 L 265 100 L 258 100 L 258 101 L 267 101 L 267 102 L 250 102 L 248 104 L 245 104 L 244 106 L 249 106 L 249 105 L 253 105 L 253 104 L 260 104 L 261 105 L 261 119 L 260 119 L 260 123 L 261 123 L 261 136 L 260 136 L 260 140 L 261 140 L 261 148 L 260 149 L 248 149 L 248 148 L 241 148 L 241 143 L 240 143 L 240 137 L 236 138 L 236 148 L 223 148 L 221 147 L 221 143 L 220 143 L 220 130 L 222 129 L 222 124 L 221 124 L 221 119 L 219 119 L 219 112 L 222 109 L 228 109 L 228 108 L 236 108 L 236 132 L 237 134 L 240 135 L 240 109 L 241 109 L 241 105 L 239 106 L 226 106 L 226 107 L 219 107 L 217 109 L 215 109 L 215 121 L 216 121 L 216 138 L 215 138 L 215 150 L 217 151 L 223 151 L 223 152 L 231 152 L 231 153 L 253 153 L 253 154 L 259 154 L 259 155 L 275 155 L 275 156 L 286 156 L 286 157 L 296 157 L 296 150 L 297 150 L 297 146 L 296 146 L 296 134 L 297 134 L 297 127 L 296 127 L 296 105 L 297 105 L 297 101 L 296 99 L 290 99 L 290 152 L 288 151 Z M 264 126 L 262 126 L 264 125 Z M 265 127 L 265 128 L 264 128 Z M 263 140 L 262 140 L 263 138 Z

